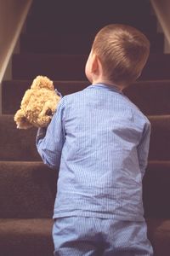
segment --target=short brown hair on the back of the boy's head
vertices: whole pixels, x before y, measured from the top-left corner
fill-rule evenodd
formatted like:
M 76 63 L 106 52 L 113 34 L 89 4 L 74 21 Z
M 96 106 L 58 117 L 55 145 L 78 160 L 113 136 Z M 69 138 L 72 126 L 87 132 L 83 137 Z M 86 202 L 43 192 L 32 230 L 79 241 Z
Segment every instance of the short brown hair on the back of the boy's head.
M 92 50 L 99 57 L 105 78 L 126 86 L 142 72 L 150 54 L 150 42 L 132 26 L 111 24 L 97 33 Z

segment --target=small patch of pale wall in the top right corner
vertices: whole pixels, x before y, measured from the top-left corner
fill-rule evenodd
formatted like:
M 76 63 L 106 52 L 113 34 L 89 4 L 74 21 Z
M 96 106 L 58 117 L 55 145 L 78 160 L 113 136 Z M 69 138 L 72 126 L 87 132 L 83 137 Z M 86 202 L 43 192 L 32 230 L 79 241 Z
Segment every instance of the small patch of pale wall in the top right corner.
M 165 35 L 165 53 L 170 53 L 170 1 L 150 0 Z

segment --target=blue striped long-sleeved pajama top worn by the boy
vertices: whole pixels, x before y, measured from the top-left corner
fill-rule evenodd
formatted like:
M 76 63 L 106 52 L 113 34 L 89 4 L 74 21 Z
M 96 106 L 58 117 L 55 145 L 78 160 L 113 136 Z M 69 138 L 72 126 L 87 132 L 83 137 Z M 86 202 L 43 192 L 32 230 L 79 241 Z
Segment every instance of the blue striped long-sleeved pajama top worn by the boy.
M 150 122 L 116 86 L 93 84 L 64 96 L 37 150 L 59 169 L 54 218 L 143 221 L 142 178 Z

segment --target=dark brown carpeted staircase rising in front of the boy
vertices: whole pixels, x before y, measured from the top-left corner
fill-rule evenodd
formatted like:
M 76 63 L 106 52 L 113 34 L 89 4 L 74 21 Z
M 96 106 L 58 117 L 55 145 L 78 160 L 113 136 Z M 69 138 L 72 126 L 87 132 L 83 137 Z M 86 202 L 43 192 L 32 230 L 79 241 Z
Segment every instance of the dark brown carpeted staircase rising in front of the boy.
M 170 254 L 170 55 L 148 0 L 33 1 L 13 55 L 12 79 L 3 81 L 0 116 L 0 256 L 52 256 L 57 173 L 42 164 L 37 130 L 19 131 L 14 113 L 38 74 L 63 94 L 89 83 L 84 67 L 95 33 L 109 23 L 139 28 L 150 38 L 149 61 L 138 82 L 124 91 L 150 119 L 150 155 L 144 176 L 144 214 L 156 256 Z

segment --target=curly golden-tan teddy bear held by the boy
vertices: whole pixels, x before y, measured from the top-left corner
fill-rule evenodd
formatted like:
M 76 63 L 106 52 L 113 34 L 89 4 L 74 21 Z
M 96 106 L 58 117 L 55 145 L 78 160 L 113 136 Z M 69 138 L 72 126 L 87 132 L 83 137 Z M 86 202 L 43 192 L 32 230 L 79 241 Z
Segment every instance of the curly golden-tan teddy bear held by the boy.
M 53 81 L 45 76 L 37 76 L 31 89 L 26 90 L 20 109 L 14 114 L 17 128 L 47 127 L 60 98 L 59 92 L 54 90 Z

